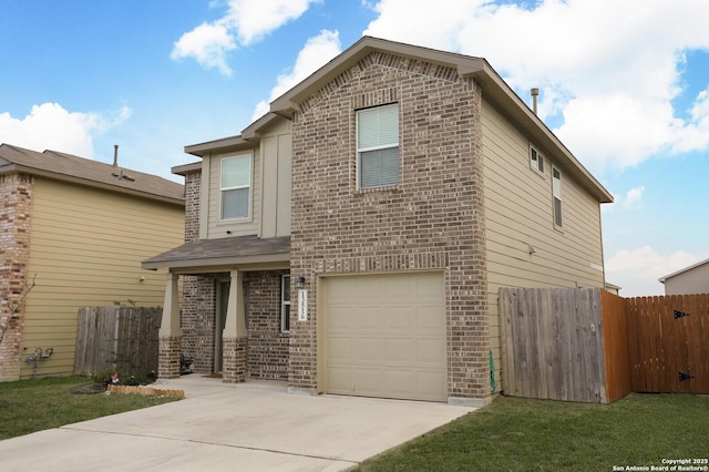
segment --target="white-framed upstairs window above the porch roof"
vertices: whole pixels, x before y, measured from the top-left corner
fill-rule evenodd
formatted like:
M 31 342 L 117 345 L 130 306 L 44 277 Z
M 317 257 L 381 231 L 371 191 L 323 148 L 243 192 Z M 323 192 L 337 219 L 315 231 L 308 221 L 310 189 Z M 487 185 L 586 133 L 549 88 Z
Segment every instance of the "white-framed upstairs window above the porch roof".
M 251 195 L 250 154 L 222 160 L 220 189 L 220 219 L 248 218 Z

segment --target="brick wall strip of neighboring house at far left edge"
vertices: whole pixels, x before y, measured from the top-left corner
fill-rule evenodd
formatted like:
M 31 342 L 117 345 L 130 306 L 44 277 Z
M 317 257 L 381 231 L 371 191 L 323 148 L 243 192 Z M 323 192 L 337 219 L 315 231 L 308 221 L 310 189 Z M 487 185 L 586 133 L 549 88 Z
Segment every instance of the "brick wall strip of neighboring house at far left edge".
M 0 381 L 20 378 L 34 178 L 0 175 Z M 14 318 L 13 307 L 20 305 Z M 4 328 L 7 327 L 7 330 Z

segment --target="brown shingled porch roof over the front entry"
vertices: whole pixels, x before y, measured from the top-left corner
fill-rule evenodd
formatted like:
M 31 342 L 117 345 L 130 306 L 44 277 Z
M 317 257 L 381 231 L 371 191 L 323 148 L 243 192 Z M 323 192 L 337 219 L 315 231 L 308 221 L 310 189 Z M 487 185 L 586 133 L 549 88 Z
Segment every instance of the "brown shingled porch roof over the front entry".
M 256 235 L 199 239 L 143 260 L 144 269 L 219 271 L 249 266 L 288 267 L 290 237 L 261 239 Z

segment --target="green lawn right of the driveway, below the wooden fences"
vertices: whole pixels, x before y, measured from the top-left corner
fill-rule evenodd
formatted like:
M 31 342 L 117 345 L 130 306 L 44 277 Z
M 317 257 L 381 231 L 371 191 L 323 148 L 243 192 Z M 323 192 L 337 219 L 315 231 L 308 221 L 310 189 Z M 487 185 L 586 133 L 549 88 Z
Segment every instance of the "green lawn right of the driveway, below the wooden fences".
M 359 470 L 613 471 L 702 458 L 709 396 L 633 393 L 612 404 L 500 397 Z

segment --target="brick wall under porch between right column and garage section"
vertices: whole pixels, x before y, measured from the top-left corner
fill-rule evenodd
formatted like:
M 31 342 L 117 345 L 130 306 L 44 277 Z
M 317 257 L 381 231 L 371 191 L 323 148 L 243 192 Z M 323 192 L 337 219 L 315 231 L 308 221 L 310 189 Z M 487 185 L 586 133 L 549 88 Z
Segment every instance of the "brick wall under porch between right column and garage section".
M 288 380 L 289 336 L 280 332 L 280 284 L 288 270 L 247 273 L 248 361 L 251 379 Z

